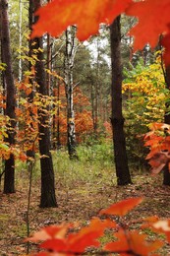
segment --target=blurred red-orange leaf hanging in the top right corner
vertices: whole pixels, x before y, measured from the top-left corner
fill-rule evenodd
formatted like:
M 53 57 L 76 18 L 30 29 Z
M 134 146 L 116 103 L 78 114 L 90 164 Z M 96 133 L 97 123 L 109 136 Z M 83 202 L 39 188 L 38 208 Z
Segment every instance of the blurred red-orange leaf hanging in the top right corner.
M 145 0 L 134 3 L 126 10 L 127 15 L 139 18 L 139 24 L 131 30 L 135 35 L 135 49 L 149 43 L 154 47 L 158 41 L 158 36 L 168 33 L 170 23 L 170 3 L 169 0 Z

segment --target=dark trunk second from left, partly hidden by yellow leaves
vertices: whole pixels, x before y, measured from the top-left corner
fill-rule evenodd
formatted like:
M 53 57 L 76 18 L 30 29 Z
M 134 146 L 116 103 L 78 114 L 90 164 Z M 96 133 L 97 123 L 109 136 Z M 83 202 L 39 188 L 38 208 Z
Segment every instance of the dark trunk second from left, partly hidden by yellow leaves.
M 40 1 L 34 1 L 34 10 L 40 7 Z M 42 47 L 42 37 L 34 39 L 36 49 Z M 35 80 L 38 84 L 38 93 L 41 96 L 47 96 L 47 85 L 45 83 L 45 72 L 43 65 L 43 52 L 37 52 L 38 61 L 35 64 Z M 41 106 L 38 110 L 39 116 L 39 152 L 40 152 L 40 168 L 41 168 L 41 197 L 40 197 L 40 207 L 57 207 L 56 196 L 55 196 L 55 178 L 53 161 L 50 153 L 50 133 L 48 126 L 48 116 L 46 115 L 46 108 Z

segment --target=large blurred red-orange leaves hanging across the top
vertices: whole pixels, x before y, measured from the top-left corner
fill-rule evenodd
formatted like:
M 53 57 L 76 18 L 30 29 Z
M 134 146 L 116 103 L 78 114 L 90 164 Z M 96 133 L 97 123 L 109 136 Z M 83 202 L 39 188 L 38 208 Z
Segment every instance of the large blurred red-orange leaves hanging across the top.
M 142 49 L 146 43 L 154 47 L 163 34 L 164 60 L 170 64 L 169 0 L 53 0 L 36 12 L 39 19 L 32 27 L 31 37 L 44 32 L 58 36 L 68 26 L 77 25 L 78 38 L 85 40 L 98 32 L 99 24 L 110 25 L 122 13 L 139 19 L 138 25 L 130 31 L 135 36 L 135 50 Z

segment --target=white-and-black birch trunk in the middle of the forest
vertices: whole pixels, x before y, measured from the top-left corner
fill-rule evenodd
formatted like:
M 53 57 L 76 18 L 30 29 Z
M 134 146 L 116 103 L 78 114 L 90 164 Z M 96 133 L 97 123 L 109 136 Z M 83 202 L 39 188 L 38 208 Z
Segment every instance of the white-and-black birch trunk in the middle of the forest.
M 74 85 L 73 85 L 73 67 L 76 47 L 76 27 L 68 27 L 66 30 L 66 51 L 64 61 L 64 80 L 67 99 L 67 133 L 68 133 L 68 152 L 71 159 L 78 158 L 76 151 L 76 130 L 75 130 L 75 112 L 74 112 Z

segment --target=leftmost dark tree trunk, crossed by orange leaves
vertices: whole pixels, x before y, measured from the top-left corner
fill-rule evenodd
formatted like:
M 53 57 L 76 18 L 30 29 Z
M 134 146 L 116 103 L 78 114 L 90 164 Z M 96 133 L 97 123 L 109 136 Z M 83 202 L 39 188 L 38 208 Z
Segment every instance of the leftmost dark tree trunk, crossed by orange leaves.
M 6 64 L 4 72 L 6 86 L 6 110 L 5 114 L 10 117 L 10 125 L 8 126 L 8 138 L 6 142 L 10 146 L 15 144 L 15 84 L 12 69 L 12 56 L 10 48 L 10 32 L 8 18 L 8 1 L 0 0 L 1 11 L 1 47 L 2 59 Z M 15 160 L 14 155 L 10 155 L 9 160 L 5 160 L 5 177 L 4 177 L 4 193 L 15 193 Z

